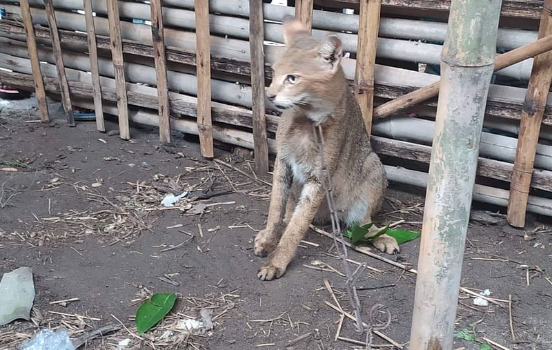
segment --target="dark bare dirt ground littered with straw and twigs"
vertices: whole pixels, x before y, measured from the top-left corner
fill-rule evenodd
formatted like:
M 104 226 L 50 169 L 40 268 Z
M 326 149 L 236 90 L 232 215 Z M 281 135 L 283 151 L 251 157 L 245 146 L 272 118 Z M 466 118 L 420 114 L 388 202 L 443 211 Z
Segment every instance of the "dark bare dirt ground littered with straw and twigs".
M 0 100 L 0 168 L 17 169 L 0 171 L 0 273 L 30 266 L 36 289 L 31 322 L 0 327 L 0 349 L 14 349 L 47 327 L 65 327 L 78 338 L 106 324 L 124 328 L 86 349 L 359 347 L 335 340 L 341 313 L 328 307 L 335 300 L 324 280 L 343 309 L 351 308 L 331 239 L 310 231 L 283 278 L 256 278 L 264 259 L 253 254 L 253 237 L 264 226 L 270 188 L 254 179 L 247 155 L 221 149 L 216 155 L 246 176 L 202 159 L 197 143 L 182 134 L 161 146 L 156 128 L 132 126 L 126 142 L 98 133 L 94 122 L 69 128 L 59 104 L 50 111 L 52 122 L 42 124 L 35 122 L 34 99 Z M 116 130 L 113 122 L 106 125 Z M 391 184 L 377 222 L 404 220 L 401 227 L 420 231 L 423 198 L 402 189 Z M 182 191 L 190 191 L 188 200 L 161 210 L 167 192 Z M 415 268 L 419 242 L 385 257 Z M 471 223 L 462 286 L 490 289 L 502 301 L 480 307 L 473 295 L 460 293 L 456 330 L 475 341 L 457 338 L 455 348 L 552 349 L 551 248 L 550 226 L 538 220 L 526 231 L 504 220 Z M 382 333 L 397 347 L 379 336 L 373 343 L 408 349 L 415 275 L 361 253 L 350 257 L 377 269 L 359 280 L 364 315 L 375 303 L 392 315 Z M 137 307 L 151 293 L 166 292 L 179 295 L 175 308 L 137 336 Z M 59 302 L 72 298 L 78 299 Z M 182 320 L 199 317 L 200 309 L 213 311 L 213 329 L 183 331 Z M 363 340 L 351 320 L 342 323 L 340 338 Z

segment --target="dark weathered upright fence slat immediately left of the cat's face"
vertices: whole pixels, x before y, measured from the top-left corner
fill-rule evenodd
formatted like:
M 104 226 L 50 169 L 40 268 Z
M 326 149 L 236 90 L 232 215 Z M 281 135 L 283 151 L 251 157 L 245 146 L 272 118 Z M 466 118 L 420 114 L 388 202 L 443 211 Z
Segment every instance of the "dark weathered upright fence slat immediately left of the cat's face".
M 268 172 L 268 139 L 264 108 L 264 15 L 262 1 L 249 0 L 249 13 L 255 171 L 260 177 L 266 177 Z

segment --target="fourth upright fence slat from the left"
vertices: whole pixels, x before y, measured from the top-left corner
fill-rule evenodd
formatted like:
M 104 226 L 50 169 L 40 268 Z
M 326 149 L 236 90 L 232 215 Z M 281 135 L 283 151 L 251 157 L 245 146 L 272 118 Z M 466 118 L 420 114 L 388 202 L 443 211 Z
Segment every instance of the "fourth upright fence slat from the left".
M 121 139 L 130 139 L 128 126 L 128 97 L 123 59 L 123 41 L 119 20 L 119 1 L 108 0 L 108 22 L 111 41 L 111 59 L 115 69 L 115 88 L 117 90 L 117 110 L 119 111 L 119 135 Z

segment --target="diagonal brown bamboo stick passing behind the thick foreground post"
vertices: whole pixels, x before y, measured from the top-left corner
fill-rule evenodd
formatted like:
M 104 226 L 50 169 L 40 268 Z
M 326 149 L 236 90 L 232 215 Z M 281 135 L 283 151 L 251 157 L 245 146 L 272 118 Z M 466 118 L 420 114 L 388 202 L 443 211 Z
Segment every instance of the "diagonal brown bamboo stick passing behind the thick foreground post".
M 552 50 L 552 35 L 497 56 L 494 70 L 501 70 L 502 68 L 517 64 L 517 62 L 524 61 L 525 59 L 540 55 L 549 50 Z M 433 84 L 424 86 L 411 93 L 402 95 L 397 99 L 381 104 L 374 108 L 374 117 L 377 119 L 385 118 L 396 113 L 398 110 L 414 106 L 426 99 L 431 99 L 431 97 L 435 97 L 439 94 L 440 86 L 441 82 L 435 81 Z

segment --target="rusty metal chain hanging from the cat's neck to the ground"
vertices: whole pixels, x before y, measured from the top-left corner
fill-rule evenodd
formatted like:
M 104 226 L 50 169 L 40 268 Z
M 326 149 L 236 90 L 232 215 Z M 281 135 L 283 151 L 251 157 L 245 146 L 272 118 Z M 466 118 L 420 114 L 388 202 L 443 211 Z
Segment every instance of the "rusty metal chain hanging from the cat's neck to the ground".
M 364 333 L 364 331 L 366 331 L 366 349 L 370 350 L 372 345 L 373 331 L 380 331 L 382 329 L 386 329 L 388 325 L 391 324 L 391 313 L 384 305 L 374 304 L 370 310 L 368 323 L 366 324 L 366 327 L 364 322 L 362 322 L 360 300 L 358 298 L 356 282 L 359 276 L 362 275 L 364 271 L 366 271 L 366 264 L 359 265 L 357 269 L 355 269 L 355 271 L 351 272 L 351 266 L 347 261 L 348 249 L 345 244 L 343 233 L 341 231 L 341 226 L 339 224 L 339 217 L 337 215 L 337 212 L 335 211 L 335 204 L 333 202 L 332 178 L 330 175 L 330 171 L 326 167 L 326 161 L 324 159 L 324 135 L 322 133 L 322 126 L 313 124 L 313 132 L 315 135 L 315 141 L 318 144 L 318 148 L 320 152 L 320 164 L 322 166 L 322 176 L 326 175 L 325 176 L 326 178 L 322 179 L 321 182 L 322 182 L 322 187 L 324 188 L 324 193 L 326 194 L 328 209 L 331 214 L 333 244 L 335 245 L 337 255 L 342 259 L 345 274 L 347 276 L 345 286 L 346 286 L 349 302 L 351 302 L 351 307 L 353 308 L 355 313 L 355 318 L 356 318 L 355 329 L 358 333 Z M 338 240 L 338 237 L 339 237 L 339 240 Z M 339 244 L 339 242 L 341 242 L 341 244 Z M 377 322 L 375 321 L 377 319 L 376 313 L 379 313 L 381 311 L 384 311 L 386 313 L 387 320 L 386 322 L 375 323 Z

